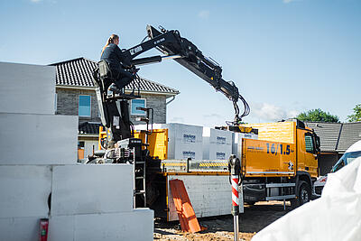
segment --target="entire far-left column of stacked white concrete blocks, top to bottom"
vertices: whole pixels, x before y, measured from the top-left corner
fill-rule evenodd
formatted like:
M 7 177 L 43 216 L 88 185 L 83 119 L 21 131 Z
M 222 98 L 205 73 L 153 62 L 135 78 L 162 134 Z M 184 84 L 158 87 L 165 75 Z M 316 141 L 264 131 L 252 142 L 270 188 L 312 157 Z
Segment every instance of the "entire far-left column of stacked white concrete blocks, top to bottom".
M 55 116 L 55 67 L 0 62 L 0 240 L 38 240 L 51 165 L 76 163 L 77 116 Z

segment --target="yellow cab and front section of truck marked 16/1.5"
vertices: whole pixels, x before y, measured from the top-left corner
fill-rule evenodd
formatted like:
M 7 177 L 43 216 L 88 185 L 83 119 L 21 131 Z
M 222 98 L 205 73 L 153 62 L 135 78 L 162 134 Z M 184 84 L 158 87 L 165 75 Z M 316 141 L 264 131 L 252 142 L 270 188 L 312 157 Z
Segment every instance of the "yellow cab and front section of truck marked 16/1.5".
M 319 136 L 301 121 L 251 125 L 258 140 L 242 143 L 244 200 L 310 200 L 319 174 Z

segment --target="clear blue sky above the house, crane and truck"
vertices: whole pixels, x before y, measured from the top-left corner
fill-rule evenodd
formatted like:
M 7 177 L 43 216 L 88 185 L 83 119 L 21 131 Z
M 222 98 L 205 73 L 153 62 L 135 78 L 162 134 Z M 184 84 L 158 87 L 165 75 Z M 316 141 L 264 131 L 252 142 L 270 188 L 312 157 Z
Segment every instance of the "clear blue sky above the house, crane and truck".
M 0 23 L 0 61 L 44 65 L 98 60 L 111 33 L 128 49 L 142 41 L 147 24 L 179 30 L 236 83 L 251 107 L 248 123 L 313 108 L 346 121 L 361 103 L 358 0 L 3 0 Z M 180 90 L 168 122 L 233 119 L 232 103 L 175 61 L 143 66 L 139 74 Z

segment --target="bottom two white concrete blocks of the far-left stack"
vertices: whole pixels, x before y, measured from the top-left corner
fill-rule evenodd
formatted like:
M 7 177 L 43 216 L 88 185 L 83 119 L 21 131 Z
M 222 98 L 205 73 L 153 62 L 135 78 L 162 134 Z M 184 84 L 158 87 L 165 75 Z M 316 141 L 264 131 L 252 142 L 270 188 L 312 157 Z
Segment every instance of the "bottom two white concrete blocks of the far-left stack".
M 39 220 L 49 213 L 51 167 L 0 165 L 0 193 L 0 240 L 39 240 Z

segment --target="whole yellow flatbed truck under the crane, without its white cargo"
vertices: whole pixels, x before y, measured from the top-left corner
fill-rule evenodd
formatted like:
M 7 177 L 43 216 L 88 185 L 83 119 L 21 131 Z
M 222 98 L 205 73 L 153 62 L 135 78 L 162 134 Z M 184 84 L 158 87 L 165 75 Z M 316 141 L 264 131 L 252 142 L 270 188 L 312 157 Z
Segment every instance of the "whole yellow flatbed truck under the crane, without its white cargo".
M 250 126 L 252 128 L 240 127 L 241 134 L 237 135 L 241 136 L 241 141 L 238 140 L 232 150 L 241 160 L 243 190 L 239 190 L 240 197 L 249 204 L 260 200 L 291 200 L 293 208 L 309 201 L 313 182 L 318 177 L 319 137 L 297 120 Z M 258 139 L 252 133 L 242 134 L 255 129 Z M 178 220 L 170 191 L 170 181 L 174 179 L 184 182 L 197 217 L 229 214 L 232 201 L 229 157 L 223 160 L 170 159 L 169 134 L 168 129 L 159 126 L 151 132 L 134 132 L 135 140 L 141 139 L 147 144 L 143 145 L 143 152 L 152 157 L 145 163 L 133 162 L 134 190 L 146 187 L 143 196 L 146 206 L 154 209 L 157 217 L 168 221 Z M 191 134 L 184 134 L 190 140 L 188 135 Z M 100 148 L 105 138 L 106 132 L 101 129 Z M 145 164 L 143 177 L 136 174 L 139 164 Z M 242 201 L 240 211 L 243 212 Z

